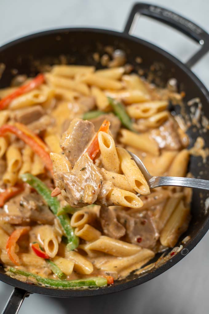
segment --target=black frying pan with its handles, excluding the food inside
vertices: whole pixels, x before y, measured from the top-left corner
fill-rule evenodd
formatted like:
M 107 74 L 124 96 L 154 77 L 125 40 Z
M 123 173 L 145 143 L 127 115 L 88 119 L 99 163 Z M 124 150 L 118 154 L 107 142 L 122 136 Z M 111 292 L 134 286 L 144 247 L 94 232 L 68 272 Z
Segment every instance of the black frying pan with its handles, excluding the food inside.
M 183 64 L 157 46 L 129 35 L 137 16 L 140 14 L 157 19 L 181 31 L 198 42 L 201 45 L 201 49 L 186 64 Z M 199 26 L 178 14 L 145 3 L 134 5 L 123 33 L 86 28 L 50 30 L 26 36 L 1 47 L 0 62 L 6 64 L 6 69 L 0 80 L 1 88 L 10 84 L 10 80 L 13 77 L 12 69 L 18 69 L 19 74 L 26 73 L 33 76 L 40 71 L 40 65 L 58 63 L 61 54 L 66 56 L 69 63 L 94 64 L 98 67 L 92 55 L 96 51 L 104 53 L 104 46 L 107 45 L 113 46 L 115 49 L 123 49 L 126 52 L 128 62 L 133 64 L 135 69 L 139 67 L 135 62 L 135 58 L 140 56 L 143 59 L 140 68 L 143 68 L 145 73 L 147 73 L 147 70 L 154 61 L 160 62 L 160 69 L 158 68 L 156 73 L 154 73 L 156 74 L 154 75 L 156 83 L 163 85 L 166 84 L 169 78 L 175 77 L 180 83 L 180 91 L 182 90 L 186 93 L 186 97 L 184 98 L 186 110 L 189 112 L 187 101 L 194 97 L 199 97 L 203 105 L 203 111 L 209 117 L 209 93 L 201 81 L 190 70 L 190 67 L 209 50 L 209 35 Z M 206 147 L 209 147 L 207 133 L 199 134 L 198 130 L 196 132 L 193 131 L 193 128 L 188 130 L 191 145 L 195 142 L 196 137 L 201 135 L 205 139 Z M 199 157 L 191 158 L 189 171 L 195 177 L 199 176 L 201 179 L 208 179 L 207 164 L 202 164 L 202 159 Z M 172 262 L 169 261 L 139 278 L 132 273 L 126 279 L 116 281 L 113 286 L 88 290 L 58 290 L 27 284 L 7 276 L 3 268 L 0 267 L 0 280 L 15 287 L 3 313 L 17 313 L 23 299 L 30 293 L 40 293 L 56 297 L 102 295 L 134 287 L 163 273 L 189 253 L 209 229 L 209 215 L 204 213 L 204 202 L 208 195 L 205 191 L 201 192 L 202 198 L 200 197 L 200 192 L 194 190 L 191 204 L 193 218 L 189 229 L 182 236 L 183 238 L 186 235 L 190 235 L 191 239 L 184 246 L 184 249 L 172 258 Z M 182 238 L 179 239 L 179 245 Z

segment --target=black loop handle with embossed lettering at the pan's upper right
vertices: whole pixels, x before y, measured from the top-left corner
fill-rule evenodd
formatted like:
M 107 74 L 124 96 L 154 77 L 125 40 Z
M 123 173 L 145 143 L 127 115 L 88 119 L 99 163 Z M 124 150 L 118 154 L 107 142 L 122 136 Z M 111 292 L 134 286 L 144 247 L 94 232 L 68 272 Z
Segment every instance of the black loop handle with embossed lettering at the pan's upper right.
M 200 50 L 186 62 L 189 68 L 209 51 L 209 34 L 200 26 L 170 10 L 148 3 L 135 3 L 124 28 L 125 34 L 133 34 L 140 15 L 168 24 L 201 45 Z

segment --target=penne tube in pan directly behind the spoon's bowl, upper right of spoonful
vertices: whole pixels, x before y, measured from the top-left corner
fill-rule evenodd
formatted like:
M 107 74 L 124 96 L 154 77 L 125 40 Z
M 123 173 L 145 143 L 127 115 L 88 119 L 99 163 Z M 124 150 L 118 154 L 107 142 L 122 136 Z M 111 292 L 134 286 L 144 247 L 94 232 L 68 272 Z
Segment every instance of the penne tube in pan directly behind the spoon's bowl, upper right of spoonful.
M 126 129 L 121 129 L 120 142 L 130 145 L 143 152 L 159 156 L 159 147 L 157 142 L 151 138 L 149 133 L 137 134 Z

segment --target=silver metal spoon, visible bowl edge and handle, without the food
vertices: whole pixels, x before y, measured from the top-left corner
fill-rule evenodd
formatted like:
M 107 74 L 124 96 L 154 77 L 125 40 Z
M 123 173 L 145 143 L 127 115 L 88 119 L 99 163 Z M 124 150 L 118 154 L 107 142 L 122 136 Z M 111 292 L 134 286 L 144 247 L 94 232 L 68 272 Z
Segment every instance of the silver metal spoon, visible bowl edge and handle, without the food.
M 129 152 L 131 157 L 144 175 L 149 187 L 154 189 L 155 187 L 163 186 L 176 186 L 176 187 L 195 187 L 198 189 L 209 190 L 209 180 L 193 179 L 193 178 L 181 178 L 181 177 L 162 177 L 151 176 L 147 171 L 145 165 L 135 154 Z

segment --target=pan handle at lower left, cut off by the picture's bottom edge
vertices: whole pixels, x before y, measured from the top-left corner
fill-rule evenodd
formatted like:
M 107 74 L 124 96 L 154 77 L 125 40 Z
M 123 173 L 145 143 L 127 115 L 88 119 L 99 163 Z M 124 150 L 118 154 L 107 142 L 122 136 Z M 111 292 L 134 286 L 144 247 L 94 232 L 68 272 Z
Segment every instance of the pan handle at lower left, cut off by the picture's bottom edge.
M 23 303 L 25 297 L 28 297 L 30 293 L 28 291 L 14 288 L 12 294 L 5 305 L 2 314 L 17 314 L 19 312 L 20 306 Z

